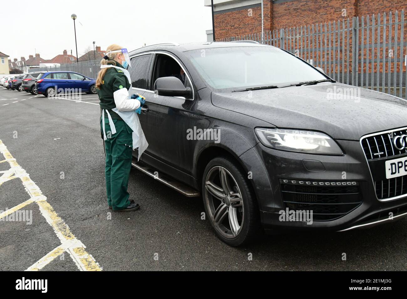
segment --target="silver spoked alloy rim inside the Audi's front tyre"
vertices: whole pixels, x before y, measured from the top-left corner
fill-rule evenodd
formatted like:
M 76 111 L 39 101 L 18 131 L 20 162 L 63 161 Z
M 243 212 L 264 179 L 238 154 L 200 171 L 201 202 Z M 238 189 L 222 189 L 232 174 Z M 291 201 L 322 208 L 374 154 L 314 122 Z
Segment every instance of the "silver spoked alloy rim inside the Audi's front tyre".
M 205 179 L 205 201 L 215 229 L 226 238 L 236 238 L 244 220 L 242 193 L 233 175 L 214 166 Z

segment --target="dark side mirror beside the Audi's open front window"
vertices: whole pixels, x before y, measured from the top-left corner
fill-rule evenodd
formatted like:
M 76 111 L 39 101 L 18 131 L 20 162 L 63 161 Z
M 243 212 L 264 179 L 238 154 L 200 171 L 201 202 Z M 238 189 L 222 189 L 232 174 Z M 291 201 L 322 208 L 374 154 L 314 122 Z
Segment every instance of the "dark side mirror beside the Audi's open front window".
M 183 96 L 192 98 L 192 89 L 185 87 L 177 77 L 161 77 L 154 82 L 154 92 L 159 96 Z

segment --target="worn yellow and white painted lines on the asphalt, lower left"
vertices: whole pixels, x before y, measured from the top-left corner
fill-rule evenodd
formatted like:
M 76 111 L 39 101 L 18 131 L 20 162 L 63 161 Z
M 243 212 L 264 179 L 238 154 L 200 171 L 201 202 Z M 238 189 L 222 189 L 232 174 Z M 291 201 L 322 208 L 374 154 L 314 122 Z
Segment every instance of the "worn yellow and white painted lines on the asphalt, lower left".
M 18 165 L 17 161 L 13 158 L 7 147 L 3 144 L 0 140 L 0 153 L 4 155 L 5 160 L 1 162 L 9 162 L 10 170 L 9 172 L 14 173 L 15 177 L 19 177 L 22 181 L 22 184 L 25 187 L 26 192 L 30 195 L 30 199 L 17 205 L 3 213 L 0 214 L 0 217 L 5 217 L 12 212 L 15 212 L 22 207 L 36 202 L 39 206 L 39 210 L 48 222 L 49 225 L 53 228 L 55 234 L 61 241 L 61 247 L 55 248 L 53 251 L 45 255 L 43 258 L 38 260 L 35 264 L 27 269 L 30 270 L 38 270 L 39 267 L 44 267 L 46 264 L 51 262 L 55 257 L 57 257 L 57 253 L 63 249 L 63 251 L 67 251 L 72 260 L 75 262 L 79 270 L 81 271 L 102 271 L 102 268 L 99 264 L 95 261 L 95 259 L 90 255 L 88 252 L 85 251 L 86 246 L 78 240 L 74 234 L 70 231 L 68 225 L 58 216 L 55 212 L 53 207 L 48 203 L 47 198 L 44 194 L 42 194 L 41 190 L 31 179 L 28 173 Z M 4 175 L 3 175 L 4 176 Z M 2 176 L 2 177 L 3 177 Z M 8 176 L 9 178 L 10 176 Z M 62 252 L 63 252 L 62 251 Z

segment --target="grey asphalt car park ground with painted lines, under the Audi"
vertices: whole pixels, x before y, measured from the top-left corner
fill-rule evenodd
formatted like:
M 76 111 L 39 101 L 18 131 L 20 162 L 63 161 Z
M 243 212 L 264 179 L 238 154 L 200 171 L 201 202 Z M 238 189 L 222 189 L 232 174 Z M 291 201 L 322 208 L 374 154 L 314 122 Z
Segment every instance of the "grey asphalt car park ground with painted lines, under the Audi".
M 129 193 L 141 209 L 110 214 L 99 115 L 94 95 L 0 88 L 0 213 L 24 203 L 32 214 L 0 222 L 0 270 L 406 270 L 407 219 L 233 248 L 201 220 L 201 199 L 136 169 Z

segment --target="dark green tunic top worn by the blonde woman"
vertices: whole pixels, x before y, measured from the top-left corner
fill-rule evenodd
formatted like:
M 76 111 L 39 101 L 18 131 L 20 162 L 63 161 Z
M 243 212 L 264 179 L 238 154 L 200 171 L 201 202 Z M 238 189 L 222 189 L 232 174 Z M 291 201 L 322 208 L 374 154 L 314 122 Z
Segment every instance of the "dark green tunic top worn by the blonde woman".
M 107 63 L 109 64 L 109 63 Z M 111 63 L 110 63 L 111 64 Z M 119 68 L 123 68 L 123 66 L 116 61 L 116 66 Z M 124 68 L 123 68 L 124 70 Z M 109 110 L 110 116 L 112 116 L 112 119 L 119 119 L 121 120 L 122 118 L 114 111 L 111 109 L 116 107 L 116 103 L 114 103 L 114 97 L 113 93 L 116 90 L 126 88 L 130 88 L 130 83 L 129 80 L 127 80 L 127 77 L 125 73 L 122 70 L 118 70 L 116 68 L 107 68 L 105 72 L 105 76 L 103 77 L 102 80 L 102 85 L 99 88 L 96 88 L 96 92 L 98 93 L 100 103 L 99 105 L 101 106 L 101 109 L 107 109 Z M 102 113 L 102 112 L 101 112 Z M 105 111 L 105 118 L 107 118 L 107 113 Z

